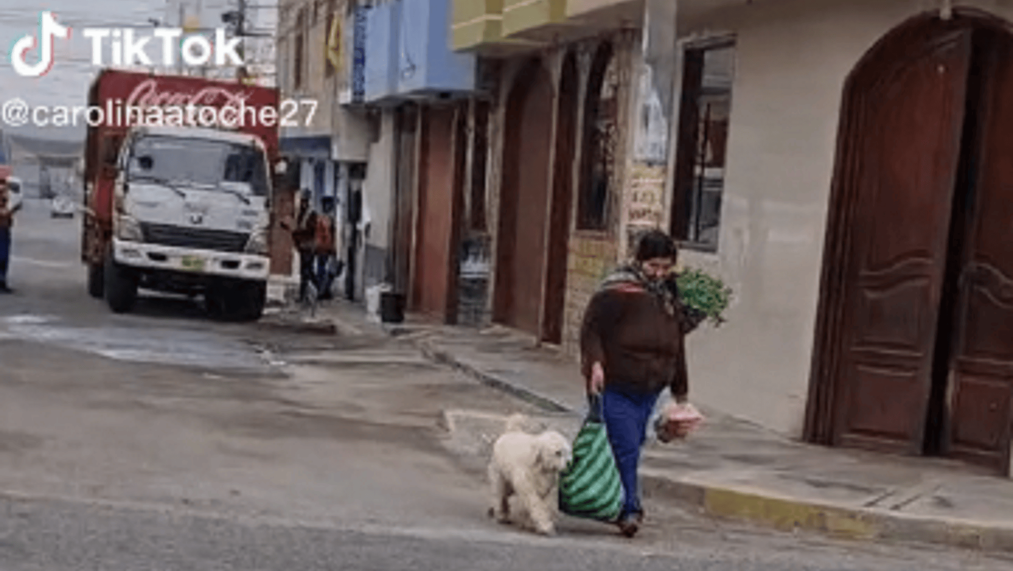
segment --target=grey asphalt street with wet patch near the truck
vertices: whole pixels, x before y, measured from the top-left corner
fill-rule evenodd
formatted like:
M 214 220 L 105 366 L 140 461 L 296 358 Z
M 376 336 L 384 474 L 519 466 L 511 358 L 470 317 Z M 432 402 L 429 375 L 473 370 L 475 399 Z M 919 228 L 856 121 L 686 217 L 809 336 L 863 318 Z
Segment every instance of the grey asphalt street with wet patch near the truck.
M 0 297 L 0 571 L 1009 569 L 999 556 L 834 542 L 646 498 L 634 540 L 485 516 L 445 408 L 529 405 L 396 339 L 287 332 L 150 297 L 87 296 L 80 221 L 30 202 Z

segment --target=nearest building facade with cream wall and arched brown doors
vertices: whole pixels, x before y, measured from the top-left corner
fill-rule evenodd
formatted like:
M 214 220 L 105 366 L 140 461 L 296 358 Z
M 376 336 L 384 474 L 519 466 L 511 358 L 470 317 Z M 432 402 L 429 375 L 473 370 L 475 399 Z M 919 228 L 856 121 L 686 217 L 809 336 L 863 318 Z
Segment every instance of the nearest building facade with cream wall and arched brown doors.
M 598 279 L 657 226 L 735 292 L 728 322 L 688 341 L 694 398 L 1009 474 L 1013 196 L 992 126 L 1013 8 L 668 4 L 671 36 L 652 0 L 457 3 L 455 47 L 501 68 L 488 321 L 575 353 Z

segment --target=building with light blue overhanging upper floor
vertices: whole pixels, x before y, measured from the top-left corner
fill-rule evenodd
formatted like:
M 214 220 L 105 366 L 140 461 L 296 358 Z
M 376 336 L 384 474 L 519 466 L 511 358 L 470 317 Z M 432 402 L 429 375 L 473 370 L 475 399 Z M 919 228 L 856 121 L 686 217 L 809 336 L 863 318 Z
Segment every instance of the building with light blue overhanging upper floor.
M 436 107 L 449 125 L 447 117 L 456 115 L 448 108 L 466 109 L 476 94 L 477 57 L 456 53 L 451 46 L 452 6 L 452 0 L 373 0 L 358 4 L 352 14 L 354 93 L 343 104 L 364 111 L 373 129 L 358 202 L 362 216 L 347 227 L 344 239 L 358 248 L 346 256 L 356 299 L 381 283 L 408 294 L 413 244 L 425 227 L 424 222 L 417 228 L 405 222 L 414 220 L 421 199 L 415 192 L 425 191 L 413 182 L 415 149 L 421 144 L 415 128 L 437 120 L 435 115 L 427 118 Z M 419 176 L 426 176 L 434 162 L 443 165 L 441 173 L 453 172 L 453 140 L 451 132 L 445 135 L 426 142 L 443 155 L 420 160 L 425 166 L 418 166 Z

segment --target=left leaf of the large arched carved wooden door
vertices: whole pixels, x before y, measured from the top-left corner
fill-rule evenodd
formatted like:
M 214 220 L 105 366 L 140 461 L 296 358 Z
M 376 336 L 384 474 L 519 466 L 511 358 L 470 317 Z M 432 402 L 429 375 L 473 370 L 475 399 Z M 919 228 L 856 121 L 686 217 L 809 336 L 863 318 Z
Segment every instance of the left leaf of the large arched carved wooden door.
M 925 30 L 855 78 L 838 444 L 922 453 L 970 39 L 969 28 Z

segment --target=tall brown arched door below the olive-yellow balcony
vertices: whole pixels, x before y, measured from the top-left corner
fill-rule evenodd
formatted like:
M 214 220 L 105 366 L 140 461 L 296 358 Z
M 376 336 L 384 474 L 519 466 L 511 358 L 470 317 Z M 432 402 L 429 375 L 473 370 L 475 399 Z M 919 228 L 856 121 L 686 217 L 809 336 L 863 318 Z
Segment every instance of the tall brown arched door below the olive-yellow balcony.
M 545 282 L 552 79 L 532 60 L 506 103 L 493 320 L 539 335 Z

